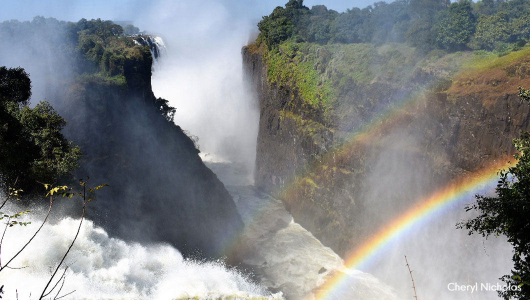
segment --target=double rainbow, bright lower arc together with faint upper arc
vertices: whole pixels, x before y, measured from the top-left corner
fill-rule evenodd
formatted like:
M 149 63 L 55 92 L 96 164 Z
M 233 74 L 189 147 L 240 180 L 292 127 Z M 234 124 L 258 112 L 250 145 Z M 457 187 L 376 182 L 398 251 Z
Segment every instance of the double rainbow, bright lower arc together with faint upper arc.
M 375 113 L 373 118 L 359 124 L 357 130 L 351 132 L 345 138 L 345 142 L 342 145 L 329 151 L 322 157 L 321 163 L 323 161 L 334 160 L 335 156 L 347 156 L 348 152 L 355 151 L 357 146 L 362 147 L 363 144 L 370 143 L 386 135 L 388 131 L 391 131 L 396 126 L 400 126 L 401 122 L 407 122 L 410 111 L 418 108 L 415 105 L 421 105 L 421 100 L 424 100 L 425 96 L 423 92 L 416 92 L 397 98 L 393 105 Z M 498 179 L 498 171 L 505 169 L 507 166 L 514 165 L 513 163 L 509 163 L 508 158 L 497 158 L 482 170 L 466 173 L 461 178 L 446 184 L 445 187 L 437 189 L 427 197 L 417 201 L 416 205 L 413 205 L 405 213 L 386 223 L 366 242 L 359 245 L 351 254 L 347 255 L 345 267 L 348 269 L 362 268 L 365 264 L 376 258 L 389 244 L 407 234 L 418 223 L 428 222 L 436 217 L 436 214 L 451 208 L 458 201 L 468 199 L 474 193 L 479 192 L 484 186 L 494 186 L 494 183 Z M 315 167 L 315 165 L 307 165 L 304 170 L 288 179 L 284 189 L 279 191 L 279 193 L 288 194 L 290 190 L 295 189 L 298 184 L 297 179 L 303 178 L 314 170 Z M 259 211 L 256 211 L 254 214 L 259 214 Z M 229 252 L 232 252 L 237 247 L 237 243 L 232 242 L 229 243 L 227 249 L 231 249 Z M 334 276 L 317 288 L 314 294 L 315 299 L 333 299 L 333 296 L 349 283 L 349 278 L 351 277 L 347 273 L 335 273 Z

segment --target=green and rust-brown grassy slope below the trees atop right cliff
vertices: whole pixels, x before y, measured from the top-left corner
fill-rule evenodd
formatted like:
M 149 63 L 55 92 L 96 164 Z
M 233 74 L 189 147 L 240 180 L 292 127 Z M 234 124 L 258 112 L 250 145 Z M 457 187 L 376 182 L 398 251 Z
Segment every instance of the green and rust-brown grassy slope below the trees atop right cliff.
M 369 116 L 379 92 L 447 93 L 453 102 L 474 95 L 476 101 L 491 107 L 502 95 L 516 93 L 517 85 L 530 86 L 530 47 L 499 57 L 497 52 L 484 50 L 450 54 L 433 50 L 421 55 L 403 43 L 377 47 L 286 41 L 273 50 L 263 46 L 250 46 L 249 51 L 263 55 L 268 81 L 298 91 L 330 120 L 359 113 Z M 351 99 L 357 91 L 361 91 L 358 99 Z

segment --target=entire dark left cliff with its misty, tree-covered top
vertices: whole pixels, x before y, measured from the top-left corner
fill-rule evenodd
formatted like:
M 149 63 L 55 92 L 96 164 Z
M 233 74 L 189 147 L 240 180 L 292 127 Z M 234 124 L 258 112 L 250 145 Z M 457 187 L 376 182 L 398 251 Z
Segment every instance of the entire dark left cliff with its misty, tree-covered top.
M 89 203 L 96 225 L 127 241 L 167 242 L 184 254 L 228 254 L 241 217 L 193 140 L 173 122 L 174 109 L 155 98 L 153 43 L 135 42 L 138 37 L 101 20 L 37 17 L 0 29 L 9 45 L 0 47 L 0 64 L 28 69 L 37 87 L 33 101 L 50 101 L 67 121 L 64 135 L 81 147 L 81 167 L 66 184 L 90 175 L 89 185 L 110 186 Z M 80 211 L 65 209 L 76 217 Z

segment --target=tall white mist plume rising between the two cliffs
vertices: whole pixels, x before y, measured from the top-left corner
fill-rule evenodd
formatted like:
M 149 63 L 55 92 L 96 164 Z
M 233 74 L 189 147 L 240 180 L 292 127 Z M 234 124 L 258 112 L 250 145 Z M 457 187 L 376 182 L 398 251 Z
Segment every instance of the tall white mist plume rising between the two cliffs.
M 156 8 L 165 11 L 162 17 L 145 24 L 167 47 L 154 66 L 153 92 L 176 108 L 175 123 L 199 138 L 201 152 L 245 162 L 251 170 L 259 111 L 240 54 L 253 33 L 251 21 L 234 18 L 219 3 L 186 6 Z

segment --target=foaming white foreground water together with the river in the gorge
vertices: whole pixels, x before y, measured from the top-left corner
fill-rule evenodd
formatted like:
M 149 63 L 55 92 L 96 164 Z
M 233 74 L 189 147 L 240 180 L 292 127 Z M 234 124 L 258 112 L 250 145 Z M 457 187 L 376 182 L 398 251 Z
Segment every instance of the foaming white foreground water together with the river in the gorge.
M 294 222 L 280 200 L 253 187 L 244 164 L 211 155 L 201 157 L 234 197 L 245 223 L 239 251 L 243 258 L 241 267 L 254 273 L 227 267 L 222 260 L 184 258 L 168 244 L 126 243 L 109 237 L 102 228 L 85 219 L 65 260 L 64 266 L 69 268 L 59 296 L 75 291 L 66 298 L 310 300 L 326 279 L 344 272 L 350 277 L 349 285 L 334 294 L 334 299 L 398 298 L 393 288 L 374 276 L 346 269 L 336 253 Z M 7 229 L 0 253 L 3 263 L 30 239 L 43 215 L 43 212 L 30 214 L 26 220 L 32 224 L 28 227 Z M 50 270 L 55 269 L 75 236 L 78 224 L 79 219 L 72 218 L 46 224 L 30 246 L 10 263 L 10 267 L 22 269 L 4 269 L 0 273 L 4 298 L 15 299 L 17 294 L 19 299 L 38 298 L 49 280 Z M 50 296 L 57 292 L 58 288 Z

